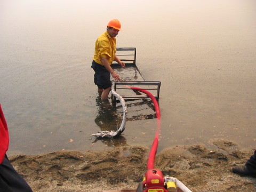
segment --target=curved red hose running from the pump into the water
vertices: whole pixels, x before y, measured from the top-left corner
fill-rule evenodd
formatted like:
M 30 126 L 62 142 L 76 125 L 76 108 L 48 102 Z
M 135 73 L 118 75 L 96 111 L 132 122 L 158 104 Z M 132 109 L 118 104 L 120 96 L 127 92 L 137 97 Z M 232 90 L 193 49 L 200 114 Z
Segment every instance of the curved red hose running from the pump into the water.
M 130 87 L 130 86 L 126 86 L 126 87 Z M 149 91 L 143 90 L 139 87 L 130 87 L 130 88 L 147 94 L 148 97 L 152 100 L 155 107 L 156 118 L 157 118 L 157 129 L 156 129 L 155 139 L 148 156 L 148 167 L 147 167 L 148 170 L 154 169 L 154 161 L 155 161 L 155 155 L 158 147 L 159 132 L 161 131 L 161 115 L 160 115 L 159 105 L 154 95 L 151 94 Z

